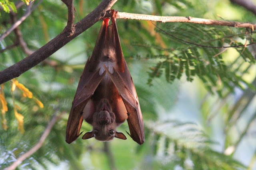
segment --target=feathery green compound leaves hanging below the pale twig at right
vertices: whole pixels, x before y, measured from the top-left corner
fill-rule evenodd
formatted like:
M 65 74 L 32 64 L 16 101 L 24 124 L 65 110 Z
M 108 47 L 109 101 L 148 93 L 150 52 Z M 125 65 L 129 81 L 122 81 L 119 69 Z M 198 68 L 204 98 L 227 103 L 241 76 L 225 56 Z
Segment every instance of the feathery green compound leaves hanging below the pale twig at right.
M 188 81 L 194 80 L 194 76 L 197 75 L 204 82 L 209 92 L 213 94 L 216 90 L 221 97 L 227 93 L 234 92 L 235 87 L 246 89 L 249 86 L 254 88 L 250 82 L 242 78 L 243 73 L 248 68 L 236 70 L 240 68 L 239 66 L 234 68 L 233 64 L 237 64 L 237 62 L 228 64 L 224 62 L 222 53 L 226 50 L 214 48 L 243 45 L 245 40 L 249 42 L 256 41 L 246 29 L 226 29 L 225 27 L 208 27 L 184 23 L 161 25 L 164 26 L 164 29 L 171 30 L 171 33 L 160 30 L 160 33 L 165 34 L 172 48 L 164 49 L 159 46 L 152 46 L 160 51 L 160 54 L 154 57 L 163 59 L 155 67 L 151 68 L 151 78 L 148 83 L 151 83 L 152 78 L 161 76 L 164 70 L 168 82 L 172 82 L 175 78 L 180 79 L 183 72 L 186 74 Z M 173 35 L 179 39 L 174 38 Z M 204 46 L 188 44 L 181 40 L 194 43 L 200 42 L 200 45 Z M 248 47 L 242 46 L 234 49 L 245 61 L 255 63 L 255 59 Z M 163 56 L 164 52 L 162 51 L 168 51 L 170 54 Z

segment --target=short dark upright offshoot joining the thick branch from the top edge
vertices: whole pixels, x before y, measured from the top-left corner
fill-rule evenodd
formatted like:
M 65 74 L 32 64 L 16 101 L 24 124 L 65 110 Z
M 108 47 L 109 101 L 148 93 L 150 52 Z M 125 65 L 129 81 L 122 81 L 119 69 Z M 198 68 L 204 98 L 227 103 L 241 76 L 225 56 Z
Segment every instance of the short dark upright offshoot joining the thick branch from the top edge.
M 67 22 L 67 29 L 72 34 L 74 32 L 73 26 L 75 21 L 75 15 L 74 15 L 74 0 L 61 0 L 66 4 L 68 7 L 68 22 Z

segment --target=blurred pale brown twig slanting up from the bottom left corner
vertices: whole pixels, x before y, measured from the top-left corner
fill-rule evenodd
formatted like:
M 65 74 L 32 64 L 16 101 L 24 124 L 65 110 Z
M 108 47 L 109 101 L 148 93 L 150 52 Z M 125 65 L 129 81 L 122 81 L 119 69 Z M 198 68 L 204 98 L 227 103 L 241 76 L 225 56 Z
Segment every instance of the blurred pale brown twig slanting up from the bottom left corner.
M 52 118 L 52 120 L 48 123 L 46 129 L 44 130 L 44 133 L 42 134 L 42 136 L 40 137 L 38 143 L 36 145 L 34 145 L 34 147 L 32 147 L 30 150 L 28 150 L 28 152 L 22 154 L 15 162 L 13 162 L 12 165 L 8 166 L 5 170 L 14 170 L 19 164 L 22 163 L 23 160 L 25 160 L 26 158 L 28 158 L 29 156 L 31 156 L 34 152 L 36 152 L 38 149 L 40 149 L 40 147 L 42 146 L 42 144 L 44 143 L 44 140 L 46 139 L 46 137 L 49 135 L 53 125 L 55 124 L 55 122 L 60 119 L 60 117 L 62 116 L 63 113 L 60 113 L 60 115 L 56 116 L 54 115 L 54 117 Z

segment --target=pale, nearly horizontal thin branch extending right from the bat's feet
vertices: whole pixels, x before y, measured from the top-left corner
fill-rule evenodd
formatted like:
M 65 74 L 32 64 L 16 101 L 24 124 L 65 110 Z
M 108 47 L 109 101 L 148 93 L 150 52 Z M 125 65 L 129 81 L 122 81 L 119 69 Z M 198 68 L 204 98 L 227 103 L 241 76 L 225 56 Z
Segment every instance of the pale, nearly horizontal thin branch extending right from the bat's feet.
M 190 22 L 190 23 L 201 23 L 206 25 L 222 25 L 229 27 L 244 27 L 252 29 L 256 27 L 256 24 L 248 22 L 236 22 L 236 21 L 221 21 L 221 20 L 208 20 L 203 18 L 194 17 L 182 17 L 182 16 L 151 16 L 144 14 L 131 14 L 126 12 L 118 12 L 117 18 L 133 19 L 133 20 L 149 20 L 159 22 Z

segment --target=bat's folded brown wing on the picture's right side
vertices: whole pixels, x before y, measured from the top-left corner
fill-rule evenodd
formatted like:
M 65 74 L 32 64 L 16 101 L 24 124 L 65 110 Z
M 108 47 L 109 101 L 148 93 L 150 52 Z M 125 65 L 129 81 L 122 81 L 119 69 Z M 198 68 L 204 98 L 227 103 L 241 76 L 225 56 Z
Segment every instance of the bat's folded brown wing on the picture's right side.
M 127 67 L 126 64 L 125 66 Z M 109 72 L 108 68 L 106 68 L 105 65 L 104 65 L 104 68 L 108 73 L 108 75 L 110 76 L 112 82 L 116 86 L 118 93 L 122 97 L 122 100 L 128 112 L 127 122 L 130 129 L 130 137 L 132 137 L 134 141 L 136 141 L 138 144 L 141 145 L 145 141 L 144 125 L 143 125 L 142 113 L 140 110 L 140 104 L 136 100 L 136 93 L 133 95 L 130 92 L 130 90 L 126 87 L 126 84 L 124 83 L 122 76 L 118 73 L 116 68 L 113 67 L 114 72 L 112 74 Z M 130 76 L 130 72 L 126 72 L 126 74 L 129 74 Z M 132 79 L 130 80 L 131 80 L 130 83 L 132 83 L 133 85 Z M 134 91 L 135 91 L 135 88 L 134 88 Z

